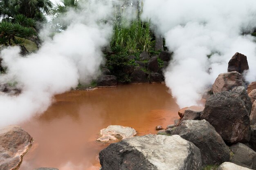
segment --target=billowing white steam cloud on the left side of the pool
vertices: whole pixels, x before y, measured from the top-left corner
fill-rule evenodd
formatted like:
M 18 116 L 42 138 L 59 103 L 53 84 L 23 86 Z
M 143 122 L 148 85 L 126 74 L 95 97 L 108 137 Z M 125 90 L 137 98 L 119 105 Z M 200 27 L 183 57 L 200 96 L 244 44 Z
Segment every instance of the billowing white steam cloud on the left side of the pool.
M 7 74 L 0 83 L 17 82 L 22 88 L 18 96 L 0 94 L 0 126 L 16 124 L 34 113 L 42 113 L 52 97 L 88 83 L 99 74 L 103 63 L 101 48 L 107 46 L 112 26 L 101 22 L 112 16 L 109 1 L 87 1 L 79 13 L 69 11 L 65 21 L 70 26 L 45 42 L 37 53 L 19 55 L 18 47 L 1 51 Z M 49 30 L 48 30 L 49 31 Z M 44 30 L 43 35 L 47 35 Z

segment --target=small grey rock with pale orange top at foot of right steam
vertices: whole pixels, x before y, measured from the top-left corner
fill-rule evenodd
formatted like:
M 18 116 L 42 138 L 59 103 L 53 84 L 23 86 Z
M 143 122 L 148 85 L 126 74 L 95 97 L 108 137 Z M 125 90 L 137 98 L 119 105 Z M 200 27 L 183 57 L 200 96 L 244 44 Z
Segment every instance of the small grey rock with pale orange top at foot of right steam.
M 202 106 L 190 106 L 189 108 L 186 108 L 184 111 L 184 116 L 181 119 L 181 121 L 184 120 L 200 120 L 200 116 L 202 115 L 202 112 L 204 110 L 204 107 Z

